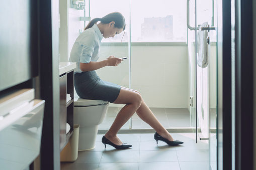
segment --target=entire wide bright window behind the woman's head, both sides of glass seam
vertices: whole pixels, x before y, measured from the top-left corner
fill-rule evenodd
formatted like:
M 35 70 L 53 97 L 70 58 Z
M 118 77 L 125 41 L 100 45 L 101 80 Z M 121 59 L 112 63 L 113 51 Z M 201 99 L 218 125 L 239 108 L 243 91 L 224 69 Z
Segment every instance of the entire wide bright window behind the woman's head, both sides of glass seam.
M 90 3 L 92 19 L 115 11 L 124 15 L 126 31 L 122 42 L 128 42 L 130 34 L 131 42 L 187 41 L 185 0 L 94 0 Z M 122 37 L 123 33 L 102 42 L 121 42 Z

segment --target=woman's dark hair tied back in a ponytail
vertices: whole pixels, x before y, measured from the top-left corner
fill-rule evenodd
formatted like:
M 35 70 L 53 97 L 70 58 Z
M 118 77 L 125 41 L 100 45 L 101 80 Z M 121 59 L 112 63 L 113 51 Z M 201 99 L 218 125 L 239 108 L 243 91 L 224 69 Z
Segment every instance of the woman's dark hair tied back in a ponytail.
M 98 21 L 100 21 L 103 24 L 109 24 L 112 21 L 115 22 L 115 27 L 118 29 L 123 29 L 123 31 L 125 30 L 125 19 L 124 16 L 119 13 L 119 12 L 114 12 L 114 13 L 110 13 L 108 15 L 106 15 L 103 18 L 95 18 L 92 21 L 90 21 L 90 23 L 86 26 L 86 28 L 84 28 L 84 30 L 89 29 L 91 27 L 94 26 L 94 24 L 96 24 Z

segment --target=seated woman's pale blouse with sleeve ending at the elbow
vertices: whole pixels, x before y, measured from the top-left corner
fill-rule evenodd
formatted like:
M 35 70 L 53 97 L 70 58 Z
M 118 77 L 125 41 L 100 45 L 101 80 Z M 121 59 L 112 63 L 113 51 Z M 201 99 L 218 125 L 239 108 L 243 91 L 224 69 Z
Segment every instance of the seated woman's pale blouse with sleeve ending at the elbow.
M 100 44 L 103 39 L 100 29 L 95 24 L 92 28 L 83 31 L 75 40 L 70 52 L 69 62 L 76 62 L 74 73 L 81 73 L 80 63 L 97 61 L 100 56 Z

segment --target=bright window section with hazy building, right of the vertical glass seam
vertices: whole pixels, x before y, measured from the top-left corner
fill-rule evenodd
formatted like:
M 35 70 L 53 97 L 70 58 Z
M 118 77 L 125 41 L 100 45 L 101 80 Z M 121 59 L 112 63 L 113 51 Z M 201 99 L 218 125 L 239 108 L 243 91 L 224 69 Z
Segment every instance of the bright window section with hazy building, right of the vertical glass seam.
M 186 1 L 131 0 L 131 42 L 186 42 Z

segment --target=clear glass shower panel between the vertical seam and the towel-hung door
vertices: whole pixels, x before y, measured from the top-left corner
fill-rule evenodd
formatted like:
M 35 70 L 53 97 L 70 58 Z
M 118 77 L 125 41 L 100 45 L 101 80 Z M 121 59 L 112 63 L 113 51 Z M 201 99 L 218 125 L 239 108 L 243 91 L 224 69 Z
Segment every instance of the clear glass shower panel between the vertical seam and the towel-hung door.
M 186 38 L 186 1 L 131 0 L 131 87 L 165 128 L 190 127 Z

